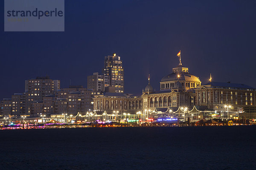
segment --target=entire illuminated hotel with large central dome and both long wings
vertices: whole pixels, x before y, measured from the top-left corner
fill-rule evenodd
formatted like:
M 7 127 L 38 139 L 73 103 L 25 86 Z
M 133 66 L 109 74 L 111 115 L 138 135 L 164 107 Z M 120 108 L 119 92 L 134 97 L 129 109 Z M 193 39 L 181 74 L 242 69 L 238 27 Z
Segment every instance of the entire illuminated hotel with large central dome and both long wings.
M 111 114 L 113 111 L 136 113 L 150 111 L 160 116 L 246 116 L 256 118 L 256 89 L 244 84 L 209 81 L 201 85 L 198 76 L 189 73 L 181 60 L 172 73 L 160 80 L 160 90 L 148 85 L 142 94 L 103 93 L 93 98 L 93 110 Z M 186 108 L 186 109 L 185 109 Z M 229 110 L 228 110 L 229 109 Z M 198 118 L 198 117 L 197 117 Z

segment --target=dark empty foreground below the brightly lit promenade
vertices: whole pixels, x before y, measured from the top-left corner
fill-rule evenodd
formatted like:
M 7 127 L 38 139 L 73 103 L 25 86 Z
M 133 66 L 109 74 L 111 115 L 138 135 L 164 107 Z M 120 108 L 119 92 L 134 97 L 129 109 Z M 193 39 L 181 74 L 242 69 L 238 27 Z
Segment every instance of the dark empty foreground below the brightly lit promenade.
M 256 126 L 0 131 L 0 170 L 256 169 Z

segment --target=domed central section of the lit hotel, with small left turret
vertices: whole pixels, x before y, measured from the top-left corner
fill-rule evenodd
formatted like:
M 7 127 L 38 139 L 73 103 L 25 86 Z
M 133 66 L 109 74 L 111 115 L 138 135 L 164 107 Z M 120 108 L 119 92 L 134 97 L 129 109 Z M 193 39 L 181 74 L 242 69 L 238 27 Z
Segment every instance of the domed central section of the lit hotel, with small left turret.
M 145 87 L 143 97 L 143 109 L 188 107 L 195 105 L 194 89 L 201 85 L 199 77 L 190 74 L 189 68 L 183 67 L 180 61 L 172 73 L 163 77 L 160 81 L 160 91 L 153 91 L 150 82 Z

